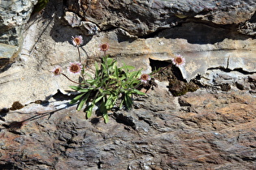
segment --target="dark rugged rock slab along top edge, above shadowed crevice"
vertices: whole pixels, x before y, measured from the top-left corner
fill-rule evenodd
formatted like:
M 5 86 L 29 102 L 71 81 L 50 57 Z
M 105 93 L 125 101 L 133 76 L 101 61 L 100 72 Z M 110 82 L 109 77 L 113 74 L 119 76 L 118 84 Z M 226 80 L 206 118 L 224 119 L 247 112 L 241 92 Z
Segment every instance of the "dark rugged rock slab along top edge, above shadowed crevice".
M 216 24 L 245 23 L 254 15 L 250 1 L 81 1 L 68 0 L 68 11 L 96 23 L 100 29 L 123 28 L 143 36 L 161 28 L 171 28 L 182 19 L 202 19 Z

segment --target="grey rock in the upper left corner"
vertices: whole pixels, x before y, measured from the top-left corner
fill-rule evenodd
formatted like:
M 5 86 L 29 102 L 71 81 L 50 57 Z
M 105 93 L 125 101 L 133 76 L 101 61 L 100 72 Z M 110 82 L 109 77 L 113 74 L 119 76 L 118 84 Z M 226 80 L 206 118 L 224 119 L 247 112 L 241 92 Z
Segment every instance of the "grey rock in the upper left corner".
M 19 55 L 24 23 L 28 22 L 37 0 L 0 2 L 0 69 Z

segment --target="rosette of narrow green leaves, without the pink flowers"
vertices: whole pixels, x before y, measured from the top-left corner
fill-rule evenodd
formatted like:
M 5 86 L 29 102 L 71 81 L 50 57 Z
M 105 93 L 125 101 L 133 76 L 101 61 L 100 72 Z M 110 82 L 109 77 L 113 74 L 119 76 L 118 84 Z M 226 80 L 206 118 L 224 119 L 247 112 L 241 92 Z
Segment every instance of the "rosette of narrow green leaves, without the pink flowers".
M 95 75 L 89 75 L 89 79 L 80 86 L 71 86 L 80 94 L 76 96 L 70 103 L 77 105 L 77 110 L 81 110 L 85 106 L 86 117 L 91 117 L 93 108 L 97 105 L 104 121 L 109 121 L 108 111 L 116 106 L 119 101 L 119 108 L 125 106 L 127 109 L 132 108 L 132 94 L 145 95 L 138 91 L 141 83 L 138 75 L 141 70 L 133 70 L 133 66 L 123 65 L 118 67 L 116 60 L 110 57 L 102 57 L 101 66 L 95 63 Z

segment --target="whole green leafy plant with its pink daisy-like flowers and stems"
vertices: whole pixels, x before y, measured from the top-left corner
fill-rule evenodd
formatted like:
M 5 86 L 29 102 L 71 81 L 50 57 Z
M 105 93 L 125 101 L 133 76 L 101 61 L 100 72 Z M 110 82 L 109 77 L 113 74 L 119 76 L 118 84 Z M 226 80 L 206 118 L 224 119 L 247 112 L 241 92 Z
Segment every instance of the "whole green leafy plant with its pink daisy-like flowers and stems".
M 80 45 L 83 44 L 82 36 L 72 36 L 72 44 L 77 47 L 79 62 L 72 62 L 68 68 L 71 74 L 80 74 L 82 79 L 81 83 L 77 83 L 72 79 L 69 79 L 66 74 L 63 74 L 60 66 L 55 66 L 54 75 L 63 74 L 72 83 L 76 83 L 77 86 L 70 86 L 73 90 L 78 92 L 78 95 L 72 99 L 71 104 L 77 103 L 77 110 L 81 110 L 85 107 L 86 117 L 91 117 L 93 108 L 98 106 L 98 110 L 102 113 L 105 122 L 109 121 L 108 111 L 113 107 L 123 106 L 127 109 L 132 108 L 132 95 L 145 95 L 144 92 L 137 90 L 137 87 L 141 83 L 147 83 L 150 80 L 149 75 L 142 74 L 139 79 L 141 70 L 132 71 L 135 69 L 133 66 L 118 67 L 117 61 L 106 55 L 106 51 L 109 49 L 108 44 L 102 44 L 100 46 L 104 53 L 102 57 L 102 63 L 98 66 L 95 62 L 95 72 L 92 76 L 85 72 L 85 66 L 81 64 L 80 57 Z M 87 75 L 87 76 L 86 76 Z M 85 79 L 89 77 L 89 79 Z

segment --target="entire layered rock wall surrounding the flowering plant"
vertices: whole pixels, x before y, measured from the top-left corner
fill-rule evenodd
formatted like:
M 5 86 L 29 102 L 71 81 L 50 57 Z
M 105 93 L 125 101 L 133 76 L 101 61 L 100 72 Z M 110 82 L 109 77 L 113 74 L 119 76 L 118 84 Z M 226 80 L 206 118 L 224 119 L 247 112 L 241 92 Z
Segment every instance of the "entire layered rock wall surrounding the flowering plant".
M 256 2 L 57 0 L 31 19 L 37 1 L 18 2 L 1 2 L 0 168 L 256 168 Z M 88 73 L 102 43 L 143 73 L 170 67 L 131 111 L 86 120 L 51 72 L 78 61 L 76 35 Z

